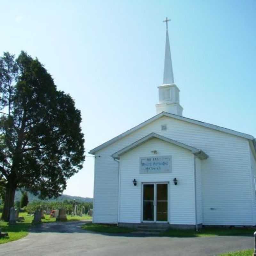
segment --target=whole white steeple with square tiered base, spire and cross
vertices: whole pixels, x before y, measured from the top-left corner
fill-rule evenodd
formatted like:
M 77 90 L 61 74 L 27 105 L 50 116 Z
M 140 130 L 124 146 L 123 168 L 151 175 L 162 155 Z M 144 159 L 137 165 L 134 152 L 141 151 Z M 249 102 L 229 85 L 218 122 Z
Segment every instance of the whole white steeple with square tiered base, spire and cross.
M 168 112 L 182 116 L 183 108 L 180 106 L 180 90 L 174 84 L 172 71 L 172 58 L 168 34 L 168 20 L 166 22 L 166 40 L 165 40 L 165 55 L 164 55 L 164 79 L 163 84 L 158 86 L 159 103 L 156 104 L 156 114 Z

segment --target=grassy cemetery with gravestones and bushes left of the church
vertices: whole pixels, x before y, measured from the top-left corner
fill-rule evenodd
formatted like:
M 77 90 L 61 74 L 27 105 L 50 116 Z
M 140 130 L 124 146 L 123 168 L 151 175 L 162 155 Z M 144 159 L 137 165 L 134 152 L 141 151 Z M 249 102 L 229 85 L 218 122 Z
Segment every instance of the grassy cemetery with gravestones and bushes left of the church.
M 32 225 L 55 221 L 91 220 L 92 217 L 88 215 L 88 209 L 90 208 L 92 208 L 91 203 L 45 203 L 43 201 L 28 204 L 24 209 L 12 207 L 9 222 L 0 220 L 0 244 L 27 236 Z

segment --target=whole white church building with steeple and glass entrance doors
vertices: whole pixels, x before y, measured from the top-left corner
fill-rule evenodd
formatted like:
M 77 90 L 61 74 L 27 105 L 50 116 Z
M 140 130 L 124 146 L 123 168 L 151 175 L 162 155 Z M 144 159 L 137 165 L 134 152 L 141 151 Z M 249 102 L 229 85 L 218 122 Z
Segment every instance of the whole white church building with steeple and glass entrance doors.
M 168 27 L 158 94 L 155 116 L 89 152 L 93 222 L 256 225 L 255 138 L 182 116 Z

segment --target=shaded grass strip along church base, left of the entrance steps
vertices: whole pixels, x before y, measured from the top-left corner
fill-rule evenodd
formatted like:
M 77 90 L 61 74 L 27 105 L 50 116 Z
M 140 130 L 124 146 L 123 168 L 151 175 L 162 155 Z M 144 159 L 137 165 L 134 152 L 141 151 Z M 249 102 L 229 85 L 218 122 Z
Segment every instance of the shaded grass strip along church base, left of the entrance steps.
M 85 230 L 96 231 L 96 232 L 106 232 L 106 233 L 130 233 L 134 231 L 133 228 L 121 228 L 114 225 L 95 224 L 95 223 L 87 223 L 83 225 L 81 228 Z

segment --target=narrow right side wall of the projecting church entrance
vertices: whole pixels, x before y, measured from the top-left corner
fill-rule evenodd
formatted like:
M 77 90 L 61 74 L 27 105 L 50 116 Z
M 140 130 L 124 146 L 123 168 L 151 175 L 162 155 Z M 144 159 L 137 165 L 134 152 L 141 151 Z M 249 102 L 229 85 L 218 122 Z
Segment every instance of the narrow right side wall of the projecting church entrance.
M 203 223 L 202 212 L 202 164 L 199 158 L 196 161 L 196 212 L 197 212 L 197 224 Z

